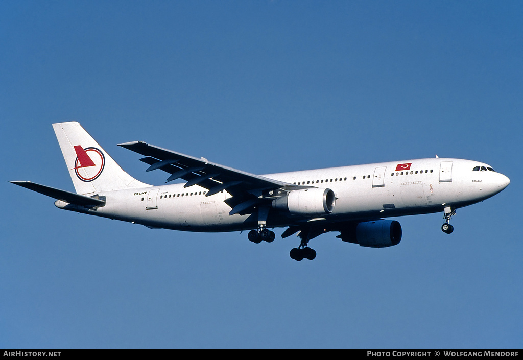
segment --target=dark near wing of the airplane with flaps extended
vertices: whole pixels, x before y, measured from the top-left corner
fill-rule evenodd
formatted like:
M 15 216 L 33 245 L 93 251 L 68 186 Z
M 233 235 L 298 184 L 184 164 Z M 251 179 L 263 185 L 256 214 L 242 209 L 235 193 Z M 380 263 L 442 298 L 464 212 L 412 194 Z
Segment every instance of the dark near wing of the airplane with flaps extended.
M 162 149 L 143 141 L 133 141 L 118 145 L 146 156 L 140 159 L 140 161 L 150 165 L 146 171 L 160 169 L 169 173 L 170 176 L 167 178 L 166 183 L 181 178 L 187 182 L 184 187 L 199 185 L 208 189 L 206 196 L 226 190 L 232 195 L 231 198 L 225 200 L 225 203 L 232 208 L 230 215 L 250 213 L 249 209 L 268 200 L 263 196 L 264 192 L 278 188 L 283 190 L 302 188 L 215 164 L 204 158 L 198 159 L 179 152 Z

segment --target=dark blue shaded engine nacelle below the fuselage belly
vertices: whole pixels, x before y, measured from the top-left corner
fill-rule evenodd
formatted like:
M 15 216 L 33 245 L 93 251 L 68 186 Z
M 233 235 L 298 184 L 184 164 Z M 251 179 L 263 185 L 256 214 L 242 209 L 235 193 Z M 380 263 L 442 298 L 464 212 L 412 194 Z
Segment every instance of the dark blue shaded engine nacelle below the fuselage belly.
M 360 222 L 356 226 L 356 241 L 360 246 L 386 248 L 401 241 L 401 224 L 396 220 Z

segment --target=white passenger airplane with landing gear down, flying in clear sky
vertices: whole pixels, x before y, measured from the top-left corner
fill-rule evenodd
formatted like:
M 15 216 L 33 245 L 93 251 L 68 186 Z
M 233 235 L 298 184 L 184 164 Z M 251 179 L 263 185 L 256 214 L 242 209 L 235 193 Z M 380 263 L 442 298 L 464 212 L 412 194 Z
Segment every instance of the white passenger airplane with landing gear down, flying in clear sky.
M 313 260 L 309 241 L 339 232 L 342 241 L 385 248 L 402 239 L 384 218 L 443 212 L 452 233 L 456 210 L 490 198 L 510 180 L 490 165 L 462 159 L 418 159 L 256 175 L 143 141 L 118 144 L 144 156 L 145 170 L 169 174 L 164 185 L 133 178 L 76 121 L 54 123 L 76 193 L 29 181 L 10 183 L 56 199 L 60 209 L 196 232 L 248 231 L 254 243 L 275 240 L 274 228 L 297 234 L 293 260 Z M 184 183 L 167 184 L 176 179 Z

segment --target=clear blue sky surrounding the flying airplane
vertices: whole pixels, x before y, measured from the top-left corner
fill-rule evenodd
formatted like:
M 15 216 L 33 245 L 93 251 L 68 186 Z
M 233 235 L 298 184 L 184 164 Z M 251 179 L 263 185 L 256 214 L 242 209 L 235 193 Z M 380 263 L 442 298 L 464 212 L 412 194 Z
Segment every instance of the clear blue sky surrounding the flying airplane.
M 0 2 L 0 347 L 522 347 L 518 1 Z M 501 194 L 401 243 L 200 234 L 66 212 L 51 123 L 132 176 L 143 140 L 264 174 L 486 162 Z

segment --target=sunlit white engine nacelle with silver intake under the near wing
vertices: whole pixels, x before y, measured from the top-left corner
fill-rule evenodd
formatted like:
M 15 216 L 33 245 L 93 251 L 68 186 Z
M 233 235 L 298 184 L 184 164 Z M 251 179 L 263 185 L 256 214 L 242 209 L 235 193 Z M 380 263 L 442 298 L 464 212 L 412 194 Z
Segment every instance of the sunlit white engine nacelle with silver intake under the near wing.
M 331 189 L 292 190 L 272 200 L 272 207 L 298 215 L 325 215 L 333 212 L 336 195 Z

